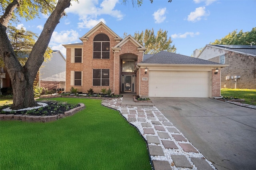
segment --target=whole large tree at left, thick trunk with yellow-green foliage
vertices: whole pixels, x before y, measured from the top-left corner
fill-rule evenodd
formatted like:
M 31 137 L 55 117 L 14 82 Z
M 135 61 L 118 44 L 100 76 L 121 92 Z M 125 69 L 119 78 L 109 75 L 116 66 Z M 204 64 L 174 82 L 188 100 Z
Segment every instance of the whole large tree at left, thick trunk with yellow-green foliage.
M 34 79 L 44 61 L 44 53 L 52 33 L 60 22 L 60 18 L 65 15 L 64 10 L 70 6 L 70 0 L 58 0 L 56 6 L 55 4 L 56 0 L 2 0 L 0 2 L 2 14 L 0 17 L 0 58 L 4 61 L 12 82 L 13 109 L 37 106 L 33 92 Z M 18 21 L 18 17 L 15 16 L 32 20 L 40 12 L 49 13 L 50 16 L 23 66 L 14 52 L 14 48 L 18 48 L 20 41 L 15 39 L 16 43 L 12 44 L 6 30 L 12 20 Z

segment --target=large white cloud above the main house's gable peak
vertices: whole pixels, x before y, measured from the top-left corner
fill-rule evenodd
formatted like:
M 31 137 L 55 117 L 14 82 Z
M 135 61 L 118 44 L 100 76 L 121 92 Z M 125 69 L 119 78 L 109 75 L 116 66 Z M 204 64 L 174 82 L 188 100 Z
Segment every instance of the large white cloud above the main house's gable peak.
M 79 3 L 73 2 L 72 6 L 66 10 L 67 13 L 78 14 L 79 28 L 92 28 L 104 19 L 98 19 L 98 16 L 109 15 L 117 20 L 122 20 L 124 15 L 120 10 L 115 10 L 118 0 L 104 0 L 98 3 L 98 0 L 81 0 Z

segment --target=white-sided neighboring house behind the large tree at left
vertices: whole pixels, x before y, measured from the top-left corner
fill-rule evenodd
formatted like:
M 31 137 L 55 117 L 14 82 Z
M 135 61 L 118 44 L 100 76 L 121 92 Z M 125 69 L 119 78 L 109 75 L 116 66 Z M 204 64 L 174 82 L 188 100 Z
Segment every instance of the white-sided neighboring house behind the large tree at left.
M 21 58 L 25 59 L 26 57 L 28 55 Z M 4 67 L 0 67 L 0 78 L 1 88 L 12 87 L 10 76 Z M 66 59 L 60 51 L 53 51 L 51 59 L 42 63 L 36 80 L 40 80 L 38 83 L 40 87 L 48 88 L 48 90 L 56 88 L 63 88 L 64 90 L 66 86 Z

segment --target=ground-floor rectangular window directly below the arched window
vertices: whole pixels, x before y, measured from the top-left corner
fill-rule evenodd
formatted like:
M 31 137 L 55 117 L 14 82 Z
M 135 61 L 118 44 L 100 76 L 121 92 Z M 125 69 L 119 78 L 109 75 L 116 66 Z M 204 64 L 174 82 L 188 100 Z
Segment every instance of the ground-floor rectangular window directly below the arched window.
M 93 86 L 109 86 L 109 69 L 93 69 Z

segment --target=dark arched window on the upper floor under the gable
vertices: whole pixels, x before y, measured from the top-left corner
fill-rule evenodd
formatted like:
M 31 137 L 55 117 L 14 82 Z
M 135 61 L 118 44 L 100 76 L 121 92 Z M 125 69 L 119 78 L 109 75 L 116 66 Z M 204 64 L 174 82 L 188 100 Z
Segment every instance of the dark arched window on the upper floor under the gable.
M 110 41 L 108 35 L 97 34 L 93 39 L 93 59 L 110 58 Z

